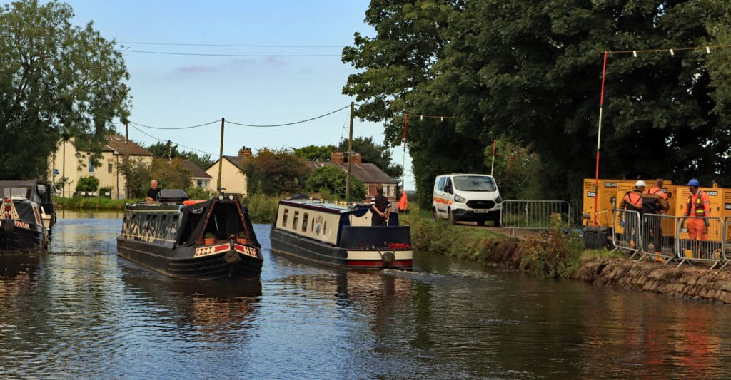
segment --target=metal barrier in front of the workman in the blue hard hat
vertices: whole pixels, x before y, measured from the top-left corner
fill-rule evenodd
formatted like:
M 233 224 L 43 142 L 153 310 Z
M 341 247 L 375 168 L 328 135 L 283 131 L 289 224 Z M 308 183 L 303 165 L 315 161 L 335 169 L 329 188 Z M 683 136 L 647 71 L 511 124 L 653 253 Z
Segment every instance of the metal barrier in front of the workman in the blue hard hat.
M 681 263 L 711 263 L 724 260 L 724 223 L 720 217 L 679 217 L 678 257 Z

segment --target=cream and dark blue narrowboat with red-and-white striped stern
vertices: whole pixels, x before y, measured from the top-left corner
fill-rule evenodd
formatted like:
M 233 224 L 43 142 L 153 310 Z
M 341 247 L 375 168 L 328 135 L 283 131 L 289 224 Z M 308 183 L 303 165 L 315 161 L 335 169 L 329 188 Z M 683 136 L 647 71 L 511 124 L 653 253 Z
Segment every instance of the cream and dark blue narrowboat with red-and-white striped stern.
M 274 253 L 352 269 L 411 269 L 409 226 L 371 226 L 370 205 L 300 198 L 279 201 L 270 230 Z

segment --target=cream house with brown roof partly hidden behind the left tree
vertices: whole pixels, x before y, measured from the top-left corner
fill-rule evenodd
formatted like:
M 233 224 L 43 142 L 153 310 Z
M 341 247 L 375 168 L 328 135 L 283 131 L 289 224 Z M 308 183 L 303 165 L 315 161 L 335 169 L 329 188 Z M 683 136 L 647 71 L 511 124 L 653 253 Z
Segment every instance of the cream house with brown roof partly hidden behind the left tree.
M 112 198 L 124 199 L 126 197 L 126 181 L 124 176 L 117 171 L 119 163 L 124 155 L 138 158 L 143 163 L 152 162 L 152 153 L 132 141 L 126 141 L 124 136 L 107 136 L 107 143 L 102 148 L 101 166 L 94 166 L 88 158 L 88 152 L 77 150 L 75 139 L 62 142 L 58 149 L 51 153 L 48 158 L 48 178 L 53 182 L 61 177 L 67 177 L 67 185 L 60 195 L 64 198 L 71 198 L 74 195 L 76 184 L 81 177 L 96 177 L 99 179 L 99 187 L 110 187 Z M 77 158 L 77 155 L 81 157 Z

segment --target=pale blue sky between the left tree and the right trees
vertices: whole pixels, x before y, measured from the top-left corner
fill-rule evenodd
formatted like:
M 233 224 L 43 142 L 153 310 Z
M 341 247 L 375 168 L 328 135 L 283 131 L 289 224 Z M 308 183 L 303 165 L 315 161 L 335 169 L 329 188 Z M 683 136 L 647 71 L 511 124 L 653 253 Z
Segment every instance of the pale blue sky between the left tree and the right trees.
M 341 62 L 342 47 L 352 44 L 356 31 L 374 35 L 374 29 L 363 22 L 369 2 L 366 0 L 66 2 L 75 11 L 75 24 L 83 26 L 94 21 L 94 28 L 102 36 L 115 39 L 128 50 L 267 55 L 125 53 L 133 96 L 130 120 L 159 128 L 200 125 L 221 117 L 251 125 L 291 123 L 347 106 L 355 98 L 341 92 L 355 69 Z M 224 155 L 235 155 L 242 146 L 258 150 L 338 144 L 348 136 L 348 123 L 347 110 L 287 127 L 251 128 L 227 123 Z M 159 140 L 150 136 L 170 139 L 181 150 L 197 150 L 218 158 L 220 123 L 178 131 L 137 128 L 141 131 L 132 125 L 129 128 L 133 141 L 154 144 Z M 124 134 L 124 127 L 118 131 Z M 353 136 L 371 136 L 382 144 L 383 127 L 356 120 Z M 393 149 L 393 159 L 402 163 L 401 147 Z M 406 190 L 414 190 L 408 157 L 406 173 Z

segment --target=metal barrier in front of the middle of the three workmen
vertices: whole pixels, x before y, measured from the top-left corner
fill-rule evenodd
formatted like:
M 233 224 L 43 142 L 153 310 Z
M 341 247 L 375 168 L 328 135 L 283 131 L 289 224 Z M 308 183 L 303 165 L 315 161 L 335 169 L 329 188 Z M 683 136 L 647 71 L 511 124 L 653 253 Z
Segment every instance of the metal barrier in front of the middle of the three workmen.
M 640 260 L 669 263 L 678 255 L 678 218 L 673 215 L 644 214 L 642 218 Z

